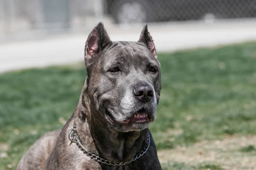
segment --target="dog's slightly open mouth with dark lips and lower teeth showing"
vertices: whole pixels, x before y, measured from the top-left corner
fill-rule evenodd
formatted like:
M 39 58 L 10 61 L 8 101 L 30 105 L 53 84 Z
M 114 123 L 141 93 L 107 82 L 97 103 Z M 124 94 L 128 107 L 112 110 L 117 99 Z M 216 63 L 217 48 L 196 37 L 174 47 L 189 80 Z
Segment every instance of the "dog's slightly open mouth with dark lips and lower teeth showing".
M 153 122 L 154 119 L 144 110 L 141 109 L 140 111 L 137 111 L 134 113 L 131 117 L 128 119 L 125 119 L 123 121 L 117 121 L 114 116 L 106 109 L 106 114 L 110 122 L 114 124 L 132 124 L 132 123 L 148 123 L 148 122 Z

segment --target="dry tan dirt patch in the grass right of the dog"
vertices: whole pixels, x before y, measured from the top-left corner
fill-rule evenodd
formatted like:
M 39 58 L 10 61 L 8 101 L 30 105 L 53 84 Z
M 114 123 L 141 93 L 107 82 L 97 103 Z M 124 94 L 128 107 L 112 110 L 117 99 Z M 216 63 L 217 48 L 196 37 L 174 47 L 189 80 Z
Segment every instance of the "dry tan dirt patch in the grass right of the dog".
M 256 151 L 241 152 L 241 147 L 256 146 L 256 136 L 225 136 L 223 140 L 202 141 L 189 147 L 177 146 L 160 150 L 161 163 L 168 161 L 198 164 L 218 164 L 224 170 L 256 170 Z

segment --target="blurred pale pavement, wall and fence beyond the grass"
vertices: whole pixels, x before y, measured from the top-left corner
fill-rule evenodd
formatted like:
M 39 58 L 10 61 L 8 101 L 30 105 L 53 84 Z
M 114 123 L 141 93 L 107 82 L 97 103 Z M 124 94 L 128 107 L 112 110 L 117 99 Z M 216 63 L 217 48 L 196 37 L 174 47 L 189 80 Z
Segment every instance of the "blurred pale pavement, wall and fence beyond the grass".
M 255 17 L 256 0 L 0 0 L 0 71 L 82 60 L 99 21 L 112 40 L 137 40 L 148 23 L 161 52 L 254 40 Z

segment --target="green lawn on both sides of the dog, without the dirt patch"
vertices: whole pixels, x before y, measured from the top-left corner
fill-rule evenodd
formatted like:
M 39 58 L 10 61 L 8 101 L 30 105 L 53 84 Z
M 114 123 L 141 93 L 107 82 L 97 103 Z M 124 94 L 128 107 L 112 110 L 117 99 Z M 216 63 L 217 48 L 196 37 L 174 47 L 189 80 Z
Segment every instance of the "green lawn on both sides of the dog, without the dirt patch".
M 256 135 L 255 42 L 159 54 L 158 58 L 162 91 L 150 129 L 159 151 L 224 136 Z M 0 153 L 8 155 L 1 158 L 1 170 L 15 169 L 36 139 L 63 127 L 85 78 L 82 64 L 0 75 Z M 163 163 L 165 170 L 208 169 L 204 166 L 200 161 Z M 221 169 L 215 162 L 207 166 Z

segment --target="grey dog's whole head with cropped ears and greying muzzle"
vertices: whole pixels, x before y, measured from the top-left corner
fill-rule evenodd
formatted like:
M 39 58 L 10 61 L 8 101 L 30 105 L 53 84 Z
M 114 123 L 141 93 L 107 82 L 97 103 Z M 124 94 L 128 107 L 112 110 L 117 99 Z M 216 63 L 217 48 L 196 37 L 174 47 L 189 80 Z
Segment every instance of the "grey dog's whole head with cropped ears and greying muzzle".
M 88 96 L 109 127 L 143 130 L 154 121 L 160 96 L 160 64 L 144 26 L 138 42 L 112 42 L 102 23 L 85 47 Z

